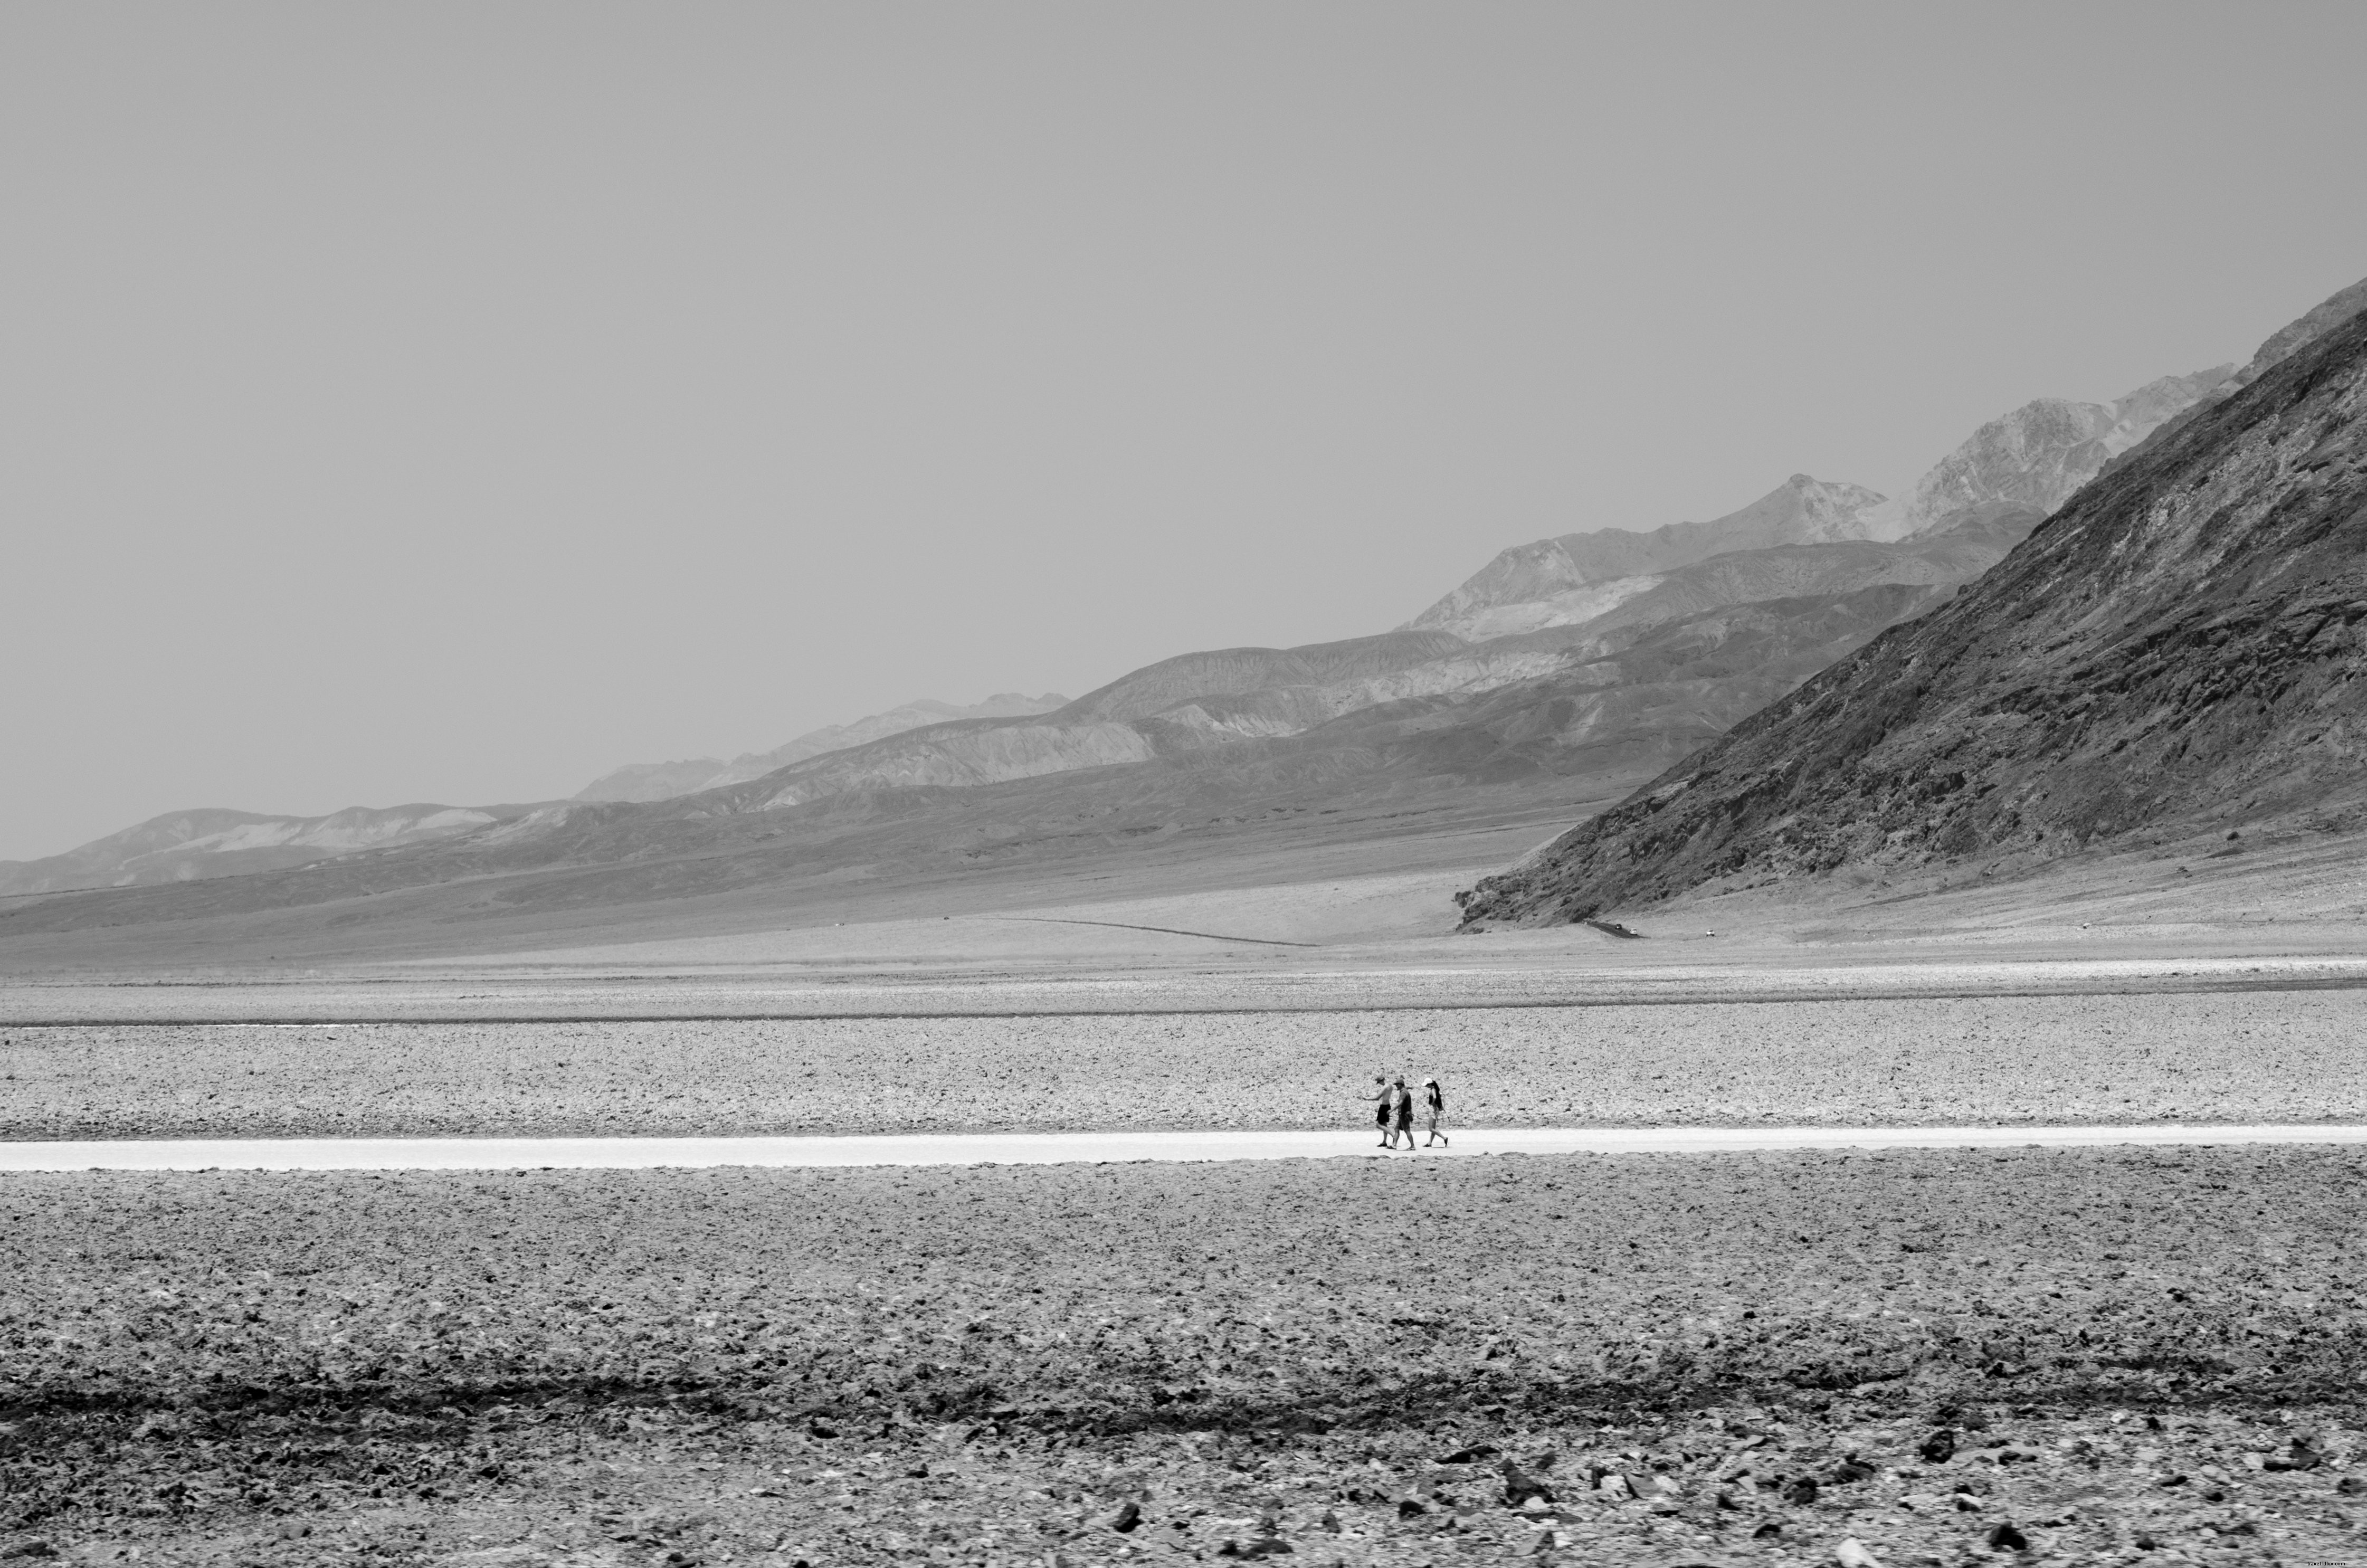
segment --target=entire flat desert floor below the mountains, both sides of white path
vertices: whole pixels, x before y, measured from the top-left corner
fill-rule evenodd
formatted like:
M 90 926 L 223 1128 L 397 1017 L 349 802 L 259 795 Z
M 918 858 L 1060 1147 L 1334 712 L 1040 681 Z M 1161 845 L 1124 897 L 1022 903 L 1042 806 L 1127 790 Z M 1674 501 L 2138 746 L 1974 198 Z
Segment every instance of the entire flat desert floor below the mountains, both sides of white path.
M 2220 876 L 1640 940 L 1446 936 L 1415 869 L 405 964 L 50 952 L 0 985 L 0 1137 L 1214 1135 L 1356 1125 L 1380 1071 L 1498 1127 L 2367 1123 L 2355 888 Z M 2199 1137 L 19 1172 L 0 1551 L 2362 1561 L 2367 1151 Z

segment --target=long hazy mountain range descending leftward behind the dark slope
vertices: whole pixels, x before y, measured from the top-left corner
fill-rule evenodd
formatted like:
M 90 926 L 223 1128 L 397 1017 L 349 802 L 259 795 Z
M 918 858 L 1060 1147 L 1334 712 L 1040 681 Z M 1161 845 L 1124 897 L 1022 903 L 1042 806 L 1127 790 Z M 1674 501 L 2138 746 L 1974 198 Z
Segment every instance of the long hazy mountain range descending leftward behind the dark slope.
M 1901 500 L 1794 474 L 1711 521 L 1517 545 L 1394 632 L 1184 654 L 1075 701 L 909 703 L 734 763 L 623 767 L 573 801 L 530 808 L 178 812 L 0 865 L 0 893 L 251 872 L 213 898 L 265 907 L 578 867 L 568 898 L 632 898 L 831 865 L 876 874 L 1098 855 L 1352 803 L 1434 810 L 1496 786 L 1610 801 L 1886 628 L 1948 604 L 2050 507 L 2135 462 L 2156 431 L 2232 405 L 2279 341 L 2289 353 L 2358 303 L 2367 284 L 2287 327 L 2244 369 L 2163 377 L 2111 403 L 2029 403 Z M 350 836 L 379 817 L 405 827 Z M 769 848 L 755 853 L 760 843 Z M 594 874 L 623 862 L 672 869 Z M 156 910 L 173 907 L 175 895 L 159 898 Z M 0 931 L 45 919 L 83 917 L 28 905 Z

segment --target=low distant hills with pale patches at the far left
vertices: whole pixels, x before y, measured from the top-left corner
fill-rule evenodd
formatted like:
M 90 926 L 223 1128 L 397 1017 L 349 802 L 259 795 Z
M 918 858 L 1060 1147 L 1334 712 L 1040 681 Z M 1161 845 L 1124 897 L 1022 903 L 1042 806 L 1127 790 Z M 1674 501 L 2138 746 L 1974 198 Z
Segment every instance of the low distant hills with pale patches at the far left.
M 149 817 L 45 860 L 0 860 L 0 895 L 125 888 L 194 876 L 277 872 L 331 855 L 459 838 L 523 817 L 523 805 L 355 805 L 327 817 L 182 810 Z

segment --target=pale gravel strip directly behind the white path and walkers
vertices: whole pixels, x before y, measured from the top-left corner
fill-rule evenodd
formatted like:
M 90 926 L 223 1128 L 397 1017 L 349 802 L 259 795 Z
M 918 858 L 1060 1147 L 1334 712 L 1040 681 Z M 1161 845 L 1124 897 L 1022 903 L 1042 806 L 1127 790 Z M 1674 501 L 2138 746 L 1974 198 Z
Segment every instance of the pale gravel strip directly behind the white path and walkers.
M 0 1033 L 0 1137 L 2360 1123 L 2367 990 Z

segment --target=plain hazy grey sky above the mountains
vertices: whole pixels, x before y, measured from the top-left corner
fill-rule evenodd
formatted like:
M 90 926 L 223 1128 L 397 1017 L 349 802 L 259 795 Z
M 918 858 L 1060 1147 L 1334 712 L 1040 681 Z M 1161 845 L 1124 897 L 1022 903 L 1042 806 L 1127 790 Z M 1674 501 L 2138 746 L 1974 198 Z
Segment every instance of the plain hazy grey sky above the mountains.
M 0 7 L 0 855 L 1896 490 L 2367 275 L 2367 7 Z

